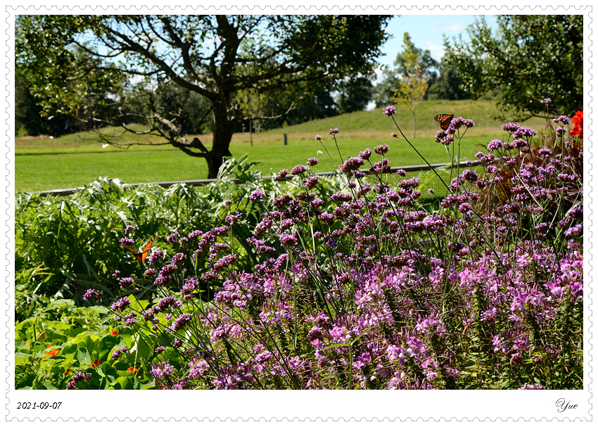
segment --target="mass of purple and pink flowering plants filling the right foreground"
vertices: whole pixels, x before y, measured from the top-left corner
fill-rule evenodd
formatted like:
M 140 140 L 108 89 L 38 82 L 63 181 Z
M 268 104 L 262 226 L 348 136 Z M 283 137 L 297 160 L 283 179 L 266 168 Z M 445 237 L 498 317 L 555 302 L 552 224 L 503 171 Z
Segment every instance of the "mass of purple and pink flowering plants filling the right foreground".
M 455 117 L 436 140 L 456 160 L 473 125 Z M 160 298 L 111 307 L 153 343 L 156 388 L 583 387 L 583 152 L 564 132 L 535 146 L 535 130 L 502 129 L 481 167 L 457 162 L 439 209 L 417 177 L 388 174 L 382 144 L 341 158 L 343 191 L 316 158 L 279 173 L 288 191 L 252 191 L 246 244 L 243 212 L 169 236 L 144 274 Z

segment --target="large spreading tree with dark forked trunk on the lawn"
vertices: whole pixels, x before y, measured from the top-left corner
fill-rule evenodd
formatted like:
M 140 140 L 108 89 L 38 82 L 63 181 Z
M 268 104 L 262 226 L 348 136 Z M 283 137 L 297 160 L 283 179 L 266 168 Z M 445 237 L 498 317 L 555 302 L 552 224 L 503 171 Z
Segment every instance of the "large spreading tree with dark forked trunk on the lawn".
M 369 72 L 388 37 L 388 18 L 23 15 L 17 18 L 16 62 L 32 70 L 31 90 L 46 100 L 48 111 L 58 108 L 97 127 L 125 123 L 129 132 L 163 136 L 165 144 L 205 158 L 208 177 L 216 177 L 222 158 L 231 155 L 229 144 L 238 125 L 279 116 L 260 115 L 262 109 L 254 108 L 260 99 L 279 89 L 292 99 L 322 81 Z M 118 104 L 114 115 L 84 108 L 94 96 L 106 98 L 100 87 L 84 81 L 84 76 L 97 72 L 113 83 L 108 98 Z M 189 141 L 181 110 L 158 103 L 165 91 L 173 93 L 173 85 L 208 101 L 208 111 L 198 108 L 195 120 L 210 118 L 210 149 L 197 137 Z M 290 110 L 292 103 L 282 107 Z M 131 121 L 143 123 L 145 129 L 128 127 Z

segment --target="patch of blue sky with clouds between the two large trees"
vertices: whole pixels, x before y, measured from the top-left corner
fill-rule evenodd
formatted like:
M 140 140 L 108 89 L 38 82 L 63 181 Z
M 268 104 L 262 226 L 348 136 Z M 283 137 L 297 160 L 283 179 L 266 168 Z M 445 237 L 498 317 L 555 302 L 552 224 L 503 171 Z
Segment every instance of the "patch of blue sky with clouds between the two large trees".
M 466 36 L 466 28 L 473 24 L 478 15 L 397 15 L 388 24 L 386 31 L 393 38 L 383 46 L 385 56 L 378 58 L 383 65 L 393 66 L 397 53 L 402 51 L 403 34 L 408 32 L 419 49 L 428 49 L 435 60 L 444 55 L 443 34 L 447 37 Z M 495 26 L 495 15 L 486 15 L 486 20 Z

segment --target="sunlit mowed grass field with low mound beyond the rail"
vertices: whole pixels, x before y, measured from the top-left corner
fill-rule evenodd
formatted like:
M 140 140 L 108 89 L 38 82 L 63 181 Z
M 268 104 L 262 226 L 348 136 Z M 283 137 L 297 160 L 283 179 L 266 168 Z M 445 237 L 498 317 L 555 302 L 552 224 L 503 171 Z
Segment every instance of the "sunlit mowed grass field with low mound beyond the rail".
M 476 122 L 476 126 L 466 132 L 462 141 L 462 160 L 474 160 L 473 155 L 478 151 L 484 151 L 489 141 L 496 138 L 504 139 L 507 136 L 500 129 L 503 122 L 492 119 L 496 112 L 493 103 L 488 101 L 423 102 L 416 114 L 415 137 L 410 113 L 397 109 L 395 120 L 402 132 L 430 163 L 449 161 L 445 146 L 434 141 L 440 127 L 433 117 L 438 113 L 450 113 Z M 536 118 L 526 122 L 526 125 L 540 131 L 546 126 L 546 122 Z M 340 130 L 336 137 L 343 159 L 358 155 L 364 148 L 373 149 L 380 144 L 388 144 L 391 166 L 424 164 L 424 160 L 421 160 L 407 142 L 390 136 L 392 132 L 399 132 L 393 120 L 383 115 L 381 108 L 253 134 L 253 145 L 250 144 L 248 133 L 235 134 L 230 150 L 236 158 L 247 154 L 249 160 L 259 161 L 256 169 L 264 175 L 276 174 L 284 168 L 291 170 L 295 165 L 305 164 L 311 157 L 320 159 L 319 165 L 314 167 L 315 172 L 328 172 L 341 164 L 332 136 L 326 135 L 333 127 Z M 113 130 L 107 129 L 106 132 Z M 286 146 L 285 133 L 288 135 Z M 316 134 L 322 136 L 322 143 L 314 140 Z M 198 137 L 210 148 L 210 134 Z M 139 138 L 133 134 L 125 134 L 118 141 L 140 145 L 127 149 L 112 146 L 103 148 L 103 144 L 93 133 L 70 134 L 53 139 L 49 136 L 17 138 L 15 190 L 73 188 L 87 184 L 97 177 L 120 178 L 132 184 L 204 179 L 208 175 L 208 167 L 203 158 L 193 158 L 167 145 L 146 145 L 163 143 L 158 137 Z

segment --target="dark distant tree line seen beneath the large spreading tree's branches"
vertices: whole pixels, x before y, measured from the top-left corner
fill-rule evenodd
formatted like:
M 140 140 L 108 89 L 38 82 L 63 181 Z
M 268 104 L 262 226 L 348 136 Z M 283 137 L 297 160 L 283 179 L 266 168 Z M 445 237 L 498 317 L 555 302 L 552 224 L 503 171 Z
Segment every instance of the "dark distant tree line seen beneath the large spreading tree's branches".
M 94 84 L 94 77 L 90 76 L 89 84 Z M 253 127 L 258 131 L 276 129 L 284 125 L 297 125 L 309 122 L 314 119 L 333 117 L 335 115 L 352 113 L 367 108 L 375 93 L 373 73 L 364 77 L 355 75 L 338 82 L 326 82 L 314 88 L 308 94 L 300 94 L 291 99 L 283 89 L 272 91 L 269 97 L 262 103 L 260 110 L 269 115 L 278 115 L 274 119 L 257 119 L 252 121 Z M 110 106 L 110 92 L 96 94 L 95 112 L 105 115 L 113 115 Z M 127 111 L 141 117 L 143 106 L 141 100 L 134 91 L 125 95 L 128 98 Z M 103 99 L 102 99 L 103 98 Z M 283 100 L 284 101 L 281 101 Z M 101 101 L 101 102 L 97 102 Z M 210 107 L 208 100 L 188 89 L 177 84 L 167 84 L 155 93 L 153 97 L 155 108 L 164 111 L 176 111 L 178 124 L 181 132 L 186 134 L 205 134 L 212 132 L 212 124 L 209 120 L 197 120 L 198 115 L 207 115 Z M 293 108 L 286 111 L 281 105 L 290 105 Z M 94 130 L 97 125 L 94 122 L 80 120 L 72 115 L 58 113 L 57 110 L 49 113 L 44 111 L 44 102 L 37 99 L 30 91 L 30 81 L 27 78 L 26 69 L 17 69 L 15 72 L 15 133 L 18 136 L 52 135 L 61 136 L 74 132 Z M 132 117 L 127 118 L 125 123 L 136 122 Z M 249 122 L 239 123 L 234 127 L 234 132 L 242 132 L 249 129 Z

